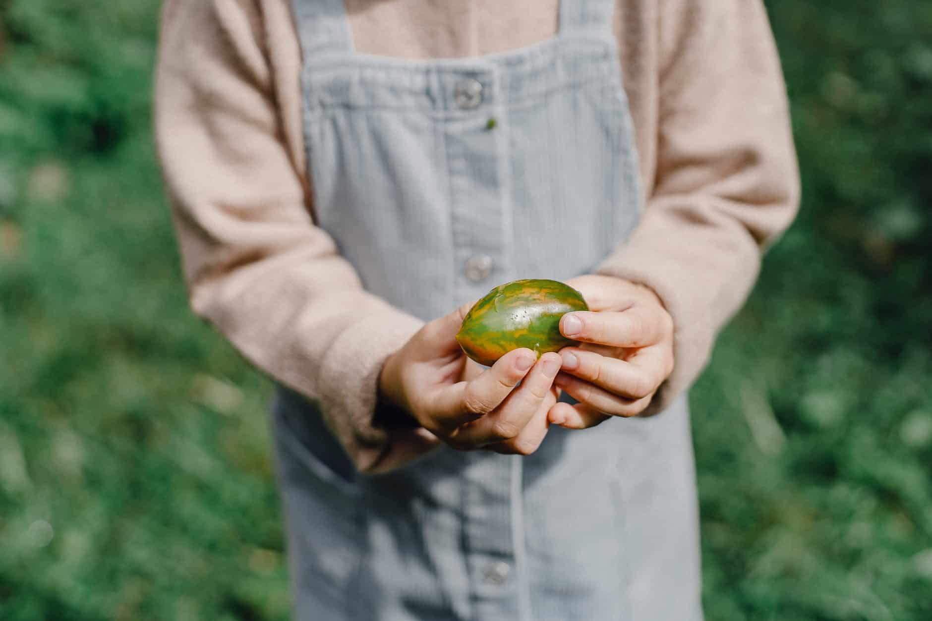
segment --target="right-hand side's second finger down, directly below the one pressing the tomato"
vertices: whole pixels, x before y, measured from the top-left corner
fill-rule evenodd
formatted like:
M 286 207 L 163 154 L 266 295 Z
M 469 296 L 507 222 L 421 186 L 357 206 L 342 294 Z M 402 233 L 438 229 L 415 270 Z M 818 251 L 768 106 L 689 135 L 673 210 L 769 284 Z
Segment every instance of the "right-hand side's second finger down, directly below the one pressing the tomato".
M 577 347 L 563 348 L 560 356 L 563 359 L 561 370 L 564 372 L 625 399 L 643 399 L 654 393 L 667 375 L 665 366 L 657 356 L 642 360 L 640 365 L 596 352 L 586 352 Z

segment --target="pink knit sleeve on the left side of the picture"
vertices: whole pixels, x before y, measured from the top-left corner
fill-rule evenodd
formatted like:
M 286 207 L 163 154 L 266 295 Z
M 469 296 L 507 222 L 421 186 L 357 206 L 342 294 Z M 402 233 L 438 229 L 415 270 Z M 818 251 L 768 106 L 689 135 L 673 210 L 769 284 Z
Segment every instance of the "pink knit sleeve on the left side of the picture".
M 297 41 L 269 40 L 263 26 L 290 24 L 286 11 L 281 2 L 166 2 L 159 159 L 192 309 L 316 401 L 359 470 L 382 472 L 436 444 L 423 429 L 373 422 L 382 363 L 421 322 L 365 292 L 314 226 L 293 130 Z

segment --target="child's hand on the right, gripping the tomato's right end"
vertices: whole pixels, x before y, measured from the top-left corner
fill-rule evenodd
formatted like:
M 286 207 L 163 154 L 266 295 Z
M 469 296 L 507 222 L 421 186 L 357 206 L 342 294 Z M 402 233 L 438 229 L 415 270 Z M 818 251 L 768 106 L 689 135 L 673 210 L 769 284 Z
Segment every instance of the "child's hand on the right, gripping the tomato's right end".
M 566 347 L 555 384 L 580 403 L 557 403 L 548 418 L 573 429 L 610 416 L 637 416 L 673 371 L 673 319 L 648 287 L 586 275 L 567 284 L 596 312 L 569 312 L 560 332 L 583 341 Z

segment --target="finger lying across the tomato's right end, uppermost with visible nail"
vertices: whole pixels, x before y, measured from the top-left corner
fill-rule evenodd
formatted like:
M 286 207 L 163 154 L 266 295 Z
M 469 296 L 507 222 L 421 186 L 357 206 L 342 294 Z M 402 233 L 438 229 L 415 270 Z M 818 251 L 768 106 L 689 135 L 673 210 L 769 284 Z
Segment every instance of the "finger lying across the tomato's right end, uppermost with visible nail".
M 659 343 L 670 331 L 665 312 L 635 305 L 627 311 L 576 311 L 560 318 L 560 332 L 567 338 L 612 347 L 647 347 Z

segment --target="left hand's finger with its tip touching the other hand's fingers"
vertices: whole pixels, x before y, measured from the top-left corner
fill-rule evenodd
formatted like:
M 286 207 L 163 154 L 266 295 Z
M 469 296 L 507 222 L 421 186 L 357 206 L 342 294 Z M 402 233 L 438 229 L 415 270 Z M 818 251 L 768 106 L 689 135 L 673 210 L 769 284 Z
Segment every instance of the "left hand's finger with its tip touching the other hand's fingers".
M 551 386 L 561 359 L 555 352 L 544 353 L 530 370 L 521 386 L 509 394 L 495 412 L 457 429 L 451 439 L 473 446 L 514 440 L 528 425 L 528 421 L 551 396 Z

